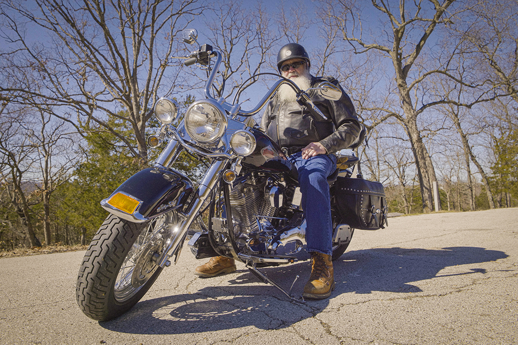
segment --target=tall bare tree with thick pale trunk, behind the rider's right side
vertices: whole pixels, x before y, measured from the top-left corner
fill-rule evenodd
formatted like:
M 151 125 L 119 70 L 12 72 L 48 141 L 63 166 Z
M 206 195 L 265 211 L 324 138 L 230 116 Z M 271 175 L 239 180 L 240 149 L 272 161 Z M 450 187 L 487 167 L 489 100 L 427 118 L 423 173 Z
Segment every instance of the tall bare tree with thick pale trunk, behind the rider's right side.
M 391 108 L 379 109 L 398 119 L 410 139 L 425 212 L 433 209 L 431 186 L 436 177 L 419 118 L 426 110 L 445 102 L 443 99 L 430 99 L 426 94 L 425 82 L 430 76 L 441 75 L 443 78 L 463 83 L 449 72 L 455 42 L 452 42 L 450 51 L 441 50 L 441 54 L 433 56 L 434 59 L 431 60 L 425 59 L 426 53 L 428 57 L 432 55 L 431 50 L 427 51 L 425 48 L 431 48 L 436 44 L 436 40 L 431 39 L 434 32 L 443 30 L 442 27 L 451 26 L 454 19 L 466 10 L 460 4 L 453 7 L 453 3 L 454 0 L 444 0 L 442 3 L 436 0 L 412 4 L 399 2 L 397 8 L 393 8 L 391 3 L 384 0 L 372 0 L 370 10 L 362 11 L 365 7 L 364 2 L 356 4 L 354 1 L 322 1 L 324 11 L 340 28 L 343 40 L 349 42 L 355 54 L 377 51 L 389 57 L 392 62 L 395 91 L 401 113 Z M 365 20 L 362 14 L 368 19 Z M 379 19 L 382 18 L 385 19 L 385 23 L 379 26 Z M 438 25 L 442 25 L 441 28 L 438 28 Z M 463 105 L 471 106 L 493 96 L 483 98 L 479 95 L 472 102 Z

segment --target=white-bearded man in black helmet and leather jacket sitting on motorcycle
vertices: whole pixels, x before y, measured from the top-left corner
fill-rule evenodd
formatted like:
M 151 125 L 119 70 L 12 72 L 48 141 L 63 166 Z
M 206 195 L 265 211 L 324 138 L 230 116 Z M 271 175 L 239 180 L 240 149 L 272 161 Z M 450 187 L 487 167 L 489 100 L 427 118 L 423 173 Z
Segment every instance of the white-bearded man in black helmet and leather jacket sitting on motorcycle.
M 324 80 L 339 87 L 338 81 L 332 77 L 316 78 L 309 73 L 309 55 L 303 46 L 296 43 L 279 50 L 277 67 L 284 78 L 295 82 L 301 90 L 308 90 Z M 301 207 L 306 215 L 306 250 L 311 254 L 311 275 L 304 286 L 303 296 L 321 299 L 329 297 L 335 288 L 333 224 L 327 176 L 336 169 L 333 153 L 351 146 L 361 127 L 351 99 L 343 90 L 341 98 L 336 101 L 324 99 L 314 91 L 308 94 L 328 121 L 315 120 L 306 107 L 297 103 L 293 89 L 282 85 L 268 104 L 261 126 L 297 168 Z M 219 256 L 198 266 L 196 274 L 212 277 L 234 270 L 236 266 L 232 258 Z

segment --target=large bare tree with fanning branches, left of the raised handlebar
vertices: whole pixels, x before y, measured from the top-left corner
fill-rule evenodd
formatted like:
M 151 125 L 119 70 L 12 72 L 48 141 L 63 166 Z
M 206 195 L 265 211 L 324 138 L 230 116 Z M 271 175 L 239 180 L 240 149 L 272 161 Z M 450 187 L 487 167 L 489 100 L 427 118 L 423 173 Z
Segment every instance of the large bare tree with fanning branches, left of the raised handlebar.
M 20 103 L 39 98 L 40 105 L 64 106 L 63 113 L 77 113 L 76 125 L 103 126 L 146 162 L 146 123 L 157 91 L 165 84 L 175 87 L 178 70 L 167 68 L 174 39 L 203 5 L 198 0 L 2 0 L 0 6 L 7 42 L 3 59 L 10 62 L 4 74 L 19 81 L 0 92 L 18 96 Z M 31 30 L 44 41 L 27 34 Z M 23 78 L 30 74 L 41 81 L 36 90 Z M 130 123 L 136 143 L 114 130 L 107 116 Z

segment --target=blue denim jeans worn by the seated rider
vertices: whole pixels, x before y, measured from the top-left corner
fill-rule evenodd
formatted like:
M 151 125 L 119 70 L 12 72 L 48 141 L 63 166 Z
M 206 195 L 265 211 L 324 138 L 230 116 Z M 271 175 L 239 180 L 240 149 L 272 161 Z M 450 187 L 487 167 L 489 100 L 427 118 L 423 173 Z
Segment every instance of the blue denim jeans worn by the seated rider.
M 289 160 L 298 171 L 298 183 L 302 194 L 300 206 L 306 215 L 306 251 L 331 255 L 333 221 L 327 176 L 336 169 L 336 156 L 319 154 L 305 160 L 302 153 L 297 152 L 292 154 Z

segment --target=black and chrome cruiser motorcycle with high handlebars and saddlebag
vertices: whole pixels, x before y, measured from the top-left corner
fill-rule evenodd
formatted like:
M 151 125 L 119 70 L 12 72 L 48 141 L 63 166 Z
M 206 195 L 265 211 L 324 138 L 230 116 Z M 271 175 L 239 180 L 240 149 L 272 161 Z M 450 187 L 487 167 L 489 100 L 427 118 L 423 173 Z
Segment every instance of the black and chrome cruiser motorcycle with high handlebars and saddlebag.
M 197 44 L 196 30 L 183 34 L 186 43 Z M 137 172 L 102 200 L 102 207 L 110 214 L 90 243 L 79 270 L 76 298 L 80 309 L 99 321 L 125 313 L 146 294 L 164 267 L 177 263 L 188 238 L 196 258 L 233 257 L 262 282 L 304 303 L 302 297 L 295 298 L 291 289 L 260 270 L 309 260 L 310 256 L 305 251 L 306 222 L 296 169 L 252 116 L 287 84 L 315 119 L 326 119 L 309 93 L 337 100 L 341 89 L 322 82 L 313 89 L 300 90 L 291 80 L 276 75 L 280 79 L 257 106 L 245 111 L 240 104 L 216 99 L 210 93 L 222 62 L 220 52 L 205 44 L 177 58 L 184 59 L 186 66 L 196 64 L 208 70 L 206 99 L 192 103 L 176 128 L 171 123 L 179 117 L 178 103 L 161 98 L 155 104 L 155 116 L 162 127 L 148 137 L 148 145 L 156 148 L 164 142 L 165 149 L 152 166 Z M 353 147 L 361 145 L 364 136 L 365 128 Z M 172 167 L 183 150 L 210 162 L 197 188 Z M 333 260 L 346 251 L 355 228 L 377 229 L 386 224 L 383 186 L 363 180 L 357 163 L 354 155 L 338 154 L 338 168 L 328 178 Z

